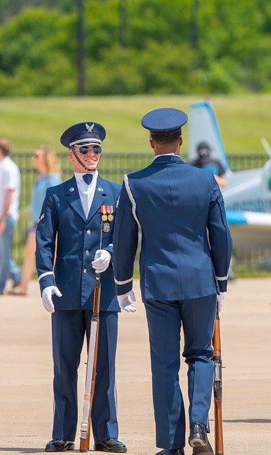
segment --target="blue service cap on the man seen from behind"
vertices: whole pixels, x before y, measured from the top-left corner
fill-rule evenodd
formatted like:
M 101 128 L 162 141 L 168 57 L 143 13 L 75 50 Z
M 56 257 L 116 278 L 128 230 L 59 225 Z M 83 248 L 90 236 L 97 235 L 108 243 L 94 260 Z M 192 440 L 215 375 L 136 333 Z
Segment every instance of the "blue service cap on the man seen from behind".
M 185 112 L 172 107 L 162 107 L 145 114 L 141 120 L 144 128 L 149 129 L 150 134 L 182 133 L 182 126 L 187 123 L 188 117 Z

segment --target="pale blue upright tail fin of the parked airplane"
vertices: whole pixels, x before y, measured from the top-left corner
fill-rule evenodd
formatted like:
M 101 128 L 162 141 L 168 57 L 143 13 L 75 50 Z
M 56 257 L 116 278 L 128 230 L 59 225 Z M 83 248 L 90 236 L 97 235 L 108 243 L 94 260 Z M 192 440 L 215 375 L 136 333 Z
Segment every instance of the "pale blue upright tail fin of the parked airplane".
M 188 159 L 197 158 L 197 144 L 207 142 L 211 146 L 211 156 L 219 159 L 227 173 L 231 173 L 228 157 L 223 146 L 219 124 L 210 100 L 190 105 Z

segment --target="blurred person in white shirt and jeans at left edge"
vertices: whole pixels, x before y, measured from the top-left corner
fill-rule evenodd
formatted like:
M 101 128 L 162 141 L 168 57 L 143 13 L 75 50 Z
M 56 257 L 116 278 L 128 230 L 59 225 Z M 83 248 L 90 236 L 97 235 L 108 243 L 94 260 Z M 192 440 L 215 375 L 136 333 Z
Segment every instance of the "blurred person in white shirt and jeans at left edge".
M 21 174 L 10 153 L 10 142 L 0 139 L 0 295 L 4 294 L 8 278 L 15 286 L 21 279 L 21 271 L 11 255 L 13 229 L 18 220 Z

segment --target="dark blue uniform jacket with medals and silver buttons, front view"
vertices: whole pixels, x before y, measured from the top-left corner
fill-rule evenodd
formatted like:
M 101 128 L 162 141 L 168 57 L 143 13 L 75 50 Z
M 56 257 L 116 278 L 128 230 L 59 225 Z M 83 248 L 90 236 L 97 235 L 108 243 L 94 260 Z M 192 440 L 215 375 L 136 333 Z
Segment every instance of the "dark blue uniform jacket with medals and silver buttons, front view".
M 114 207 L 114 220 L 103 222 L 101 242 L 101 249 L 112 254 L 116 201 L 120 188 L 118 183 L 98 176 L 87 220 L 74 176 L 46 191 L 36 233 L 35 257 L 40 291 L 48 286 L 57 286 L 62 292 L 62 297 L 52 296 L 55 309 L 92 309 L 95 284 L 92 261 L 100 245 L 101 205 Z M 120 311 L 112 264 L 101 273 L 100 309 Z

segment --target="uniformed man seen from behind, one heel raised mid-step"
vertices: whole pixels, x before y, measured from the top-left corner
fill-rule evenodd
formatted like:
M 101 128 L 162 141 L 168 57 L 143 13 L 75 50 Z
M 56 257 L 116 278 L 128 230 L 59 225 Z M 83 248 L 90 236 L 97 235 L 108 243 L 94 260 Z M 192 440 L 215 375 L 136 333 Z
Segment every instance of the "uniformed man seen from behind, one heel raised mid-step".
M 188 365 L 189 445 L 213 454 L 209 407 L 214 377 L 211 346 L 216 314 L 226 293 L 231 235 L 223 198 L 211 171 L 179 156 L 187 114 L 155 109 L 142 119 L 155 159 L 124 176 L 114 228 L 118 303 L 135 311 L 133 264 L 142 232 L 140 289 L 145 304 L 153 377 L 156 455 L 183 455 L 185 416 L 179 387 L 180 331 Z

